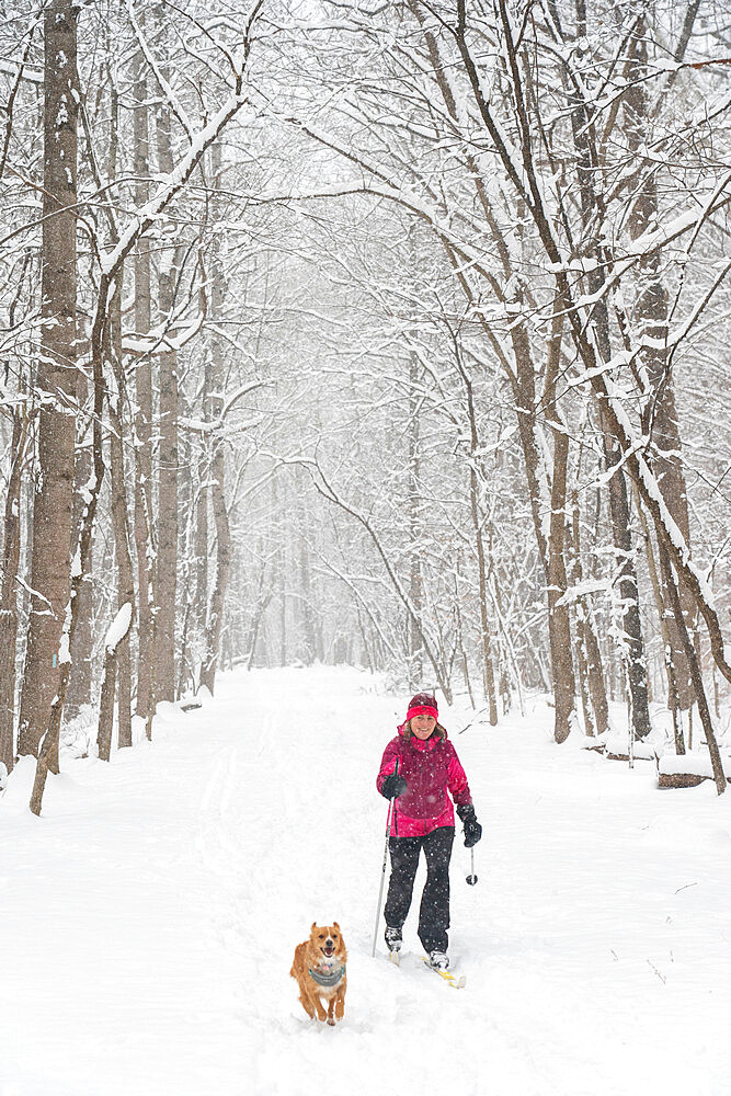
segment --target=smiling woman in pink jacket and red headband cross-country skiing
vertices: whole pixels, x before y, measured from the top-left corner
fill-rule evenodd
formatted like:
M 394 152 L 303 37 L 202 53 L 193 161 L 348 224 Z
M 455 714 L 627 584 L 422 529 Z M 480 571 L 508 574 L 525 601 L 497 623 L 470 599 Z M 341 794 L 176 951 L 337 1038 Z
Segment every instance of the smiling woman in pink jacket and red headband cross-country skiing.
M 426 884 L 419 912 L 419 939 L 438 970 L 449 966 L 449 858 L 455 838 L 455 812 L 465 826 L 469 848 L 482 836 L 465 769 L 437 722 L 436 700 L 418 693 L 409 705 L 399 733 L 386 746 L 376 787 L 393 799 L 391 879 L 386 899 L 386 946 L 401 949 L 401 927 L 411 905 L 419 856 L 426 857 Z M 447 796 L 447 791 L 449 796 Z

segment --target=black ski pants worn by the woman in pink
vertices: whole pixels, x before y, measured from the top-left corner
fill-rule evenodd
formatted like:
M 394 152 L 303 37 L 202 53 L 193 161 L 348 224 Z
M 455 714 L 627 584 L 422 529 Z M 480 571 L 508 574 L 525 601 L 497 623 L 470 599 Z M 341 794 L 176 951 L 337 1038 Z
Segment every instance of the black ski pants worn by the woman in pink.
M 422 848 L 426 857 L 426 884 L 419 910 L 419 939 L 425 951 L 446 951 L 449 945 L 449 859 L 455 840 L 453 825 L 439 826 L 424 837 L 391 837 L 391 878 L 386 899 L 386 924 L 401 928 L 411 905 Z

